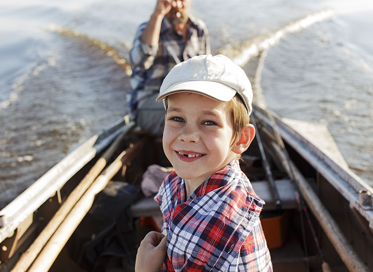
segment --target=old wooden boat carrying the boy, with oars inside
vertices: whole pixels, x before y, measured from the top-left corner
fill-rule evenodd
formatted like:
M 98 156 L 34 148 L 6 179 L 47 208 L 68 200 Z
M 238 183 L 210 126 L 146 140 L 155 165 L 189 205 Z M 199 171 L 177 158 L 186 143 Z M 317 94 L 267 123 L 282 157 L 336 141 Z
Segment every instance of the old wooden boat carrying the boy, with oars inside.
M 266 201 L 261 220 L 274 271 L 372 271 L 373 190 L 348 169 L 325 127 L 259 107 L 252 120 L 257 136 L 241 168 Z M 132 271 L 138 242 L 160 214 L 139 192 L 152 164 L 170 166 L 161 141 L 128 116 L 79 146 L 0 211 L 0 272 Z M 110 184 L 127 193 L 119 210 L 100 202 Z

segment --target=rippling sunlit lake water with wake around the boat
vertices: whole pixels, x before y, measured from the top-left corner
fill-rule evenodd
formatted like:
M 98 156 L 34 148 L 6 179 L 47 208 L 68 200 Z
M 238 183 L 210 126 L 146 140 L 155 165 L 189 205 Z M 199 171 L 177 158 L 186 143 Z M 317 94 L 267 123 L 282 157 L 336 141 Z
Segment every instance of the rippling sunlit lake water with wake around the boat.
M 0 2 L 0 209 L 128 112 L 128 51 L 155 2 Z M 194 0 L 192 14 L 269 108 L 327 124 L 373 185 L 373 3 Z

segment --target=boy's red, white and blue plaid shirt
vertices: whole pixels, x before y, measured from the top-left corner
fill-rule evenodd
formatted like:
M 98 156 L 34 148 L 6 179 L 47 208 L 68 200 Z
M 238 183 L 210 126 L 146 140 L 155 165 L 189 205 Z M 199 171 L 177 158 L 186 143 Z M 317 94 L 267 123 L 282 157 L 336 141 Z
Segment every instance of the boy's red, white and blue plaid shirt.
M 155 200 L 168 233 L 163 271 L 272 271 L 259 214 L 264 201 L 233 160 L 185 201 L 185 182 L 172 172 Z

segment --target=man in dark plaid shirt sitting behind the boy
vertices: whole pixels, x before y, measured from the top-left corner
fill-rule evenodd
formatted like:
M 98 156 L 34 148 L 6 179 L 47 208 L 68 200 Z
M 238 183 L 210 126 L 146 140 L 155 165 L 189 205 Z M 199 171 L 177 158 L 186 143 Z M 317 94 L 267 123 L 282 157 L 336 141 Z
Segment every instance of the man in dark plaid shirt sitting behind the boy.
M 206 24 L 191 16 L 190 8 L 191 0 L 157 0 L 130 51 L 129 107 L 137 124 L 154 134 L 162 133 L 164 123 L 164 108 L 155 102 L 163 79 L 175 64 L 211 52 Z

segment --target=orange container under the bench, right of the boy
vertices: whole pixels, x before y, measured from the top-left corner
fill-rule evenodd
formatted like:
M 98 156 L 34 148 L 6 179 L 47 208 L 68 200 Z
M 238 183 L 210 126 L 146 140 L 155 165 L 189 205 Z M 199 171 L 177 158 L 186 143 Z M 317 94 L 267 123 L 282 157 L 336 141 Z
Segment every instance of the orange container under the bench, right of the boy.
M 280 247 L 284 244 L 289 233 L 289 213 L 281 211 L 277 215 L 265 215 L 261 218 L 262 228 L 266 236 L 268 248 Z

